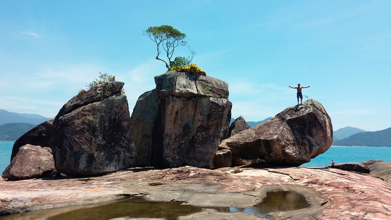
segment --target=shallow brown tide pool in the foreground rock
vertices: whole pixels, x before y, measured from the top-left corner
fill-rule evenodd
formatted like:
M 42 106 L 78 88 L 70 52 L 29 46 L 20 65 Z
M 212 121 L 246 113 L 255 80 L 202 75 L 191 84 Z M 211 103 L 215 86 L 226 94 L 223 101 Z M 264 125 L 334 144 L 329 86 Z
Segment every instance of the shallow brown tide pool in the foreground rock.
M 45 209 L 0 217 L 0 220 L 109 220 L 113 218 L 162 218 L 178 220 L 179 216 L 198 213 L 204 209 L 219 212 L 252 213 L 273 219 L 267 213 L 291 211 L 310 207 L 303 195 L 293 191 L 269 191 L 257 206 L 252 207 L 199 207 L 180 202 L 153 202 L 143 197 L 123 198 L 117 202 L 99 205 L 78 205 Z

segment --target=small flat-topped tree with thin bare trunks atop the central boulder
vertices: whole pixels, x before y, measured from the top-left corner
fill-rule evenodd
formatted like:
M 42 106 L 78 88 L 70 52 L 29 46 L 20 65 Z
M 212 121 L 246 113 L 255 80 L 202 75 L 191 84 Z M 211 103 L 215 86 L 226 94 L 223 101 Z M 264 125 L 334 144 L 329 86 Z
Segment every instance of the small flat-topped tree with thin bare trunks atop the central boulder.
M 176 65 L 183 65 L 183 63 L 190 64 L 195 54 L 194 50 L 190 50 L 191 56 L 185 57 L 176 57 L 174 61 L 171 61 L 172 56 L 174 54 L 174 50 L 178 46 L 187 45 L 186 41 L 183 39 L 186 38 L 186 34 L 178 31 L 178 29 L 173 28 L 170 25 L 161 25 L 155 27 L 149 27 L 147 30 L 143 32 L 143 35 L 149 37 L 152 41 L 156 43 L 158 55 L 156 56 L 156 60 L 161 60 L 165 63 L 167 69 L 170 67 L 174 67 Z M 165 51 L 165 55 L 168 58 L 168 62 L 159 58 L 161 53 L 161 48 Z

